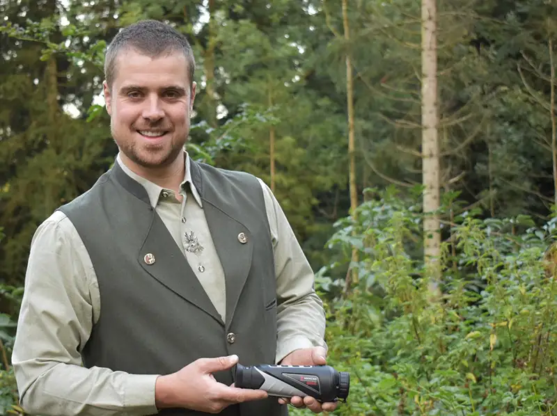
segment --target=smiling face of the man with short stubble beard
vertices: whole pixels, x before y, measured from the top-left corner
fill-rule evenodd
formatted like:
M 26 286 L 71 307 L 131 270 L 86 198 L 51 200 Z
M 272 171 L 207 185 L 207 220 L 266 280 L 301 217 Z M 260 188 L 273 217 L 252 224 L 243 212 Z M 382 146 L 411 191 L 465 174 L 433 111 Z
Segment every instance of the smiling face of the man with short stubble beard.
M 195 83 L 190 90 L 186 57 L 176 51 L 150 58 L 129 49 L 118 54 L 104 99 L 111 134 L 123 157 L 138 168 L 168 166 L 189 134 Z

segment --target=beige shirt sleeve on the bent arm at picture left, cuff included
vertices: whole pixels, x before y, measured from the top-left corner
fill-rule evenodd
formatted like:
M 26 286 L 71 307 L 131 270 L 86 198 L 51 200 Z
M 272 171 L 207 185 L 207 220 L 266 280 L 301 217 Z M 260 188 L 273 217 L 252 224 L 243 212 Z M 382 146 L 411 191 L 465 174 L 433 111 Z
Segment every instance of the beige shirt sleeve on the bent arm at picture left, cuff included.
M 86 369 L 80 351 L 98 314 L 91 259 L 60 211 L 31 241 L 12 364 L 27 413 L 49 416 L 150 415 L 156 375 Z

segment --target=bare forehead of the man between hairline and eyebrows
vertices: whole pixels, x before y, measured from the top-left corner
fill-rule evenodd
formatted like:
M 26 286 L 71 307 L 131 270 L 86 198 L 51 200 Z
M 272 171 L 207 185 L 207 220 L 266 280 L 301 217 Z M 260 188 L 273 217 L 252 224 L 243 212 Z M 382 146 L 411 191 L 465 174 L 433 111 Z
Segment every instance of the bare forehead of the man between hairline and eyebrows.
M 187 59 L 180 51 L 147 56 L 126 49 L 120 51 L 114 63 L 113 83 L 118 88 L 130 84 L 153 88 L 164 85 L 186 87 L 189 83 Z

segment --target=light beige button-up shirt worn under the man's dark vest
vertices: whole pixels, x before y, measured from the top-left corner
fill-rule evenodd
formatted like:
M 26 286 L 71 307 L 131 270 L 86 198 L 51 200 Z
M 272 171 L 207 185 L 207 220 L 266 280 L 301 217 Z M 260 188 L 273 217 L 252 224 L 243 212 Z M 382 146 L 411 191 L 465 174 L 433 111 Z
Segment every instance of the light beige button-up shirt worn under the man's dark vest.
M 186 176 L 180 191 L 182 202 L 172 191 L 132 173 L 119 156 L 116 163 L 146 188 L 152 206 L 224 317 L 223 269 L 201 198 L 189 177 L 187 154 Z M 325 319 L 322 302 L 313 290 L 313 271 L 274 195 L 261 179 L 259 182 L 274 248 L 279 301 L 276 362 L 279 362 L 295 349 L 327 348 Z M 293 302 L 294 298 L 298 301 Z M 80 351 L 100 313 L 100 293 L 91 259 L 70 220 L 56 211 L 38 227 L 31 241 L 12 355 L 20 401 L 29 413 L 42 416 L 157 413 L 157 375 L 83 367 Z

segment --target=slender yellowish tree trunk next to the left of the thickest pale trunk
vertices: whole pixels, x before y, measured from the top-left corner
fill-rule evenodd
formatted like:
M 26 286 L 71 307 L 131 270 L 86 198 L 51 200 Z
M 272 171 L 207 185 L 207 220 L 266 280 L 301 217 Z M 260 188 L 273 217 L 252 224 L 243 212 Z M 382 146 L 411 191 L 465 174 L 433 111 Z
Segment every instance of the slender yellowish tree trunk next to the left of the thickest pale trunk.
M 343 0 L 343 24 L 344 24 L 344 38 L 348 43 L 350 42 L 350 26 L 348 24 L 348 6 L 347 0 Z M 358 193 L 356 189 L 356 151 L 354 144 L 354 80 L 352 78 L 352 61 L 350 56 L 350 47 L 346 52 L 346 93 L 347 93 L 347 111 L 348 111 L 348 156 L 350 158 L 350 211 L 354 221 L 357 220 L 356 208 L 358 207 Z M 354 231 L 355 233 L 355 231 Z M 352 262 L 359 261 L 358 250 L 352 248 Z M 346 289 L 350 287 L 348 280 L 350 274 L 346 275 Z M 358 282 L 358 271 L 352 269 L 352 282 Z

